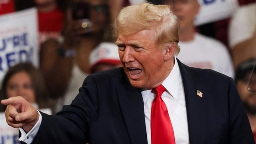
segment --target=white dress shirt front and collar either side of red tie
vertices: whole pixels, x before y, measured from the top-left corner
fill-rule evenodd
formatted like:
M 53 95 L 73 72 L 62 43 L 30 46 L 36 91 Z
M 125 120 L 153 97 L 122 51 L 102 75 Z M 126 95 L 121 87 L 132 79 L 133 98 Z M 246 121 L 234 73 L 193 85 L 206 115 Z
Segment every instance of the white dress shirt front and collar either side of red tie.
M 176 58 L 173 70 L 162 85 L 166 88 L 166 91 L 161 97 L 166 103 L 166 107 L 173 125 L 175 143 L 189 144 L 185 95 L 180 75 L 180 68 Z M 147 140 L 148 144 L 151 144 L 150 115 L 151 106 L 155 95 L 151 92 L 151 90 L 142 91 L 141 94 L 144 101 Z

